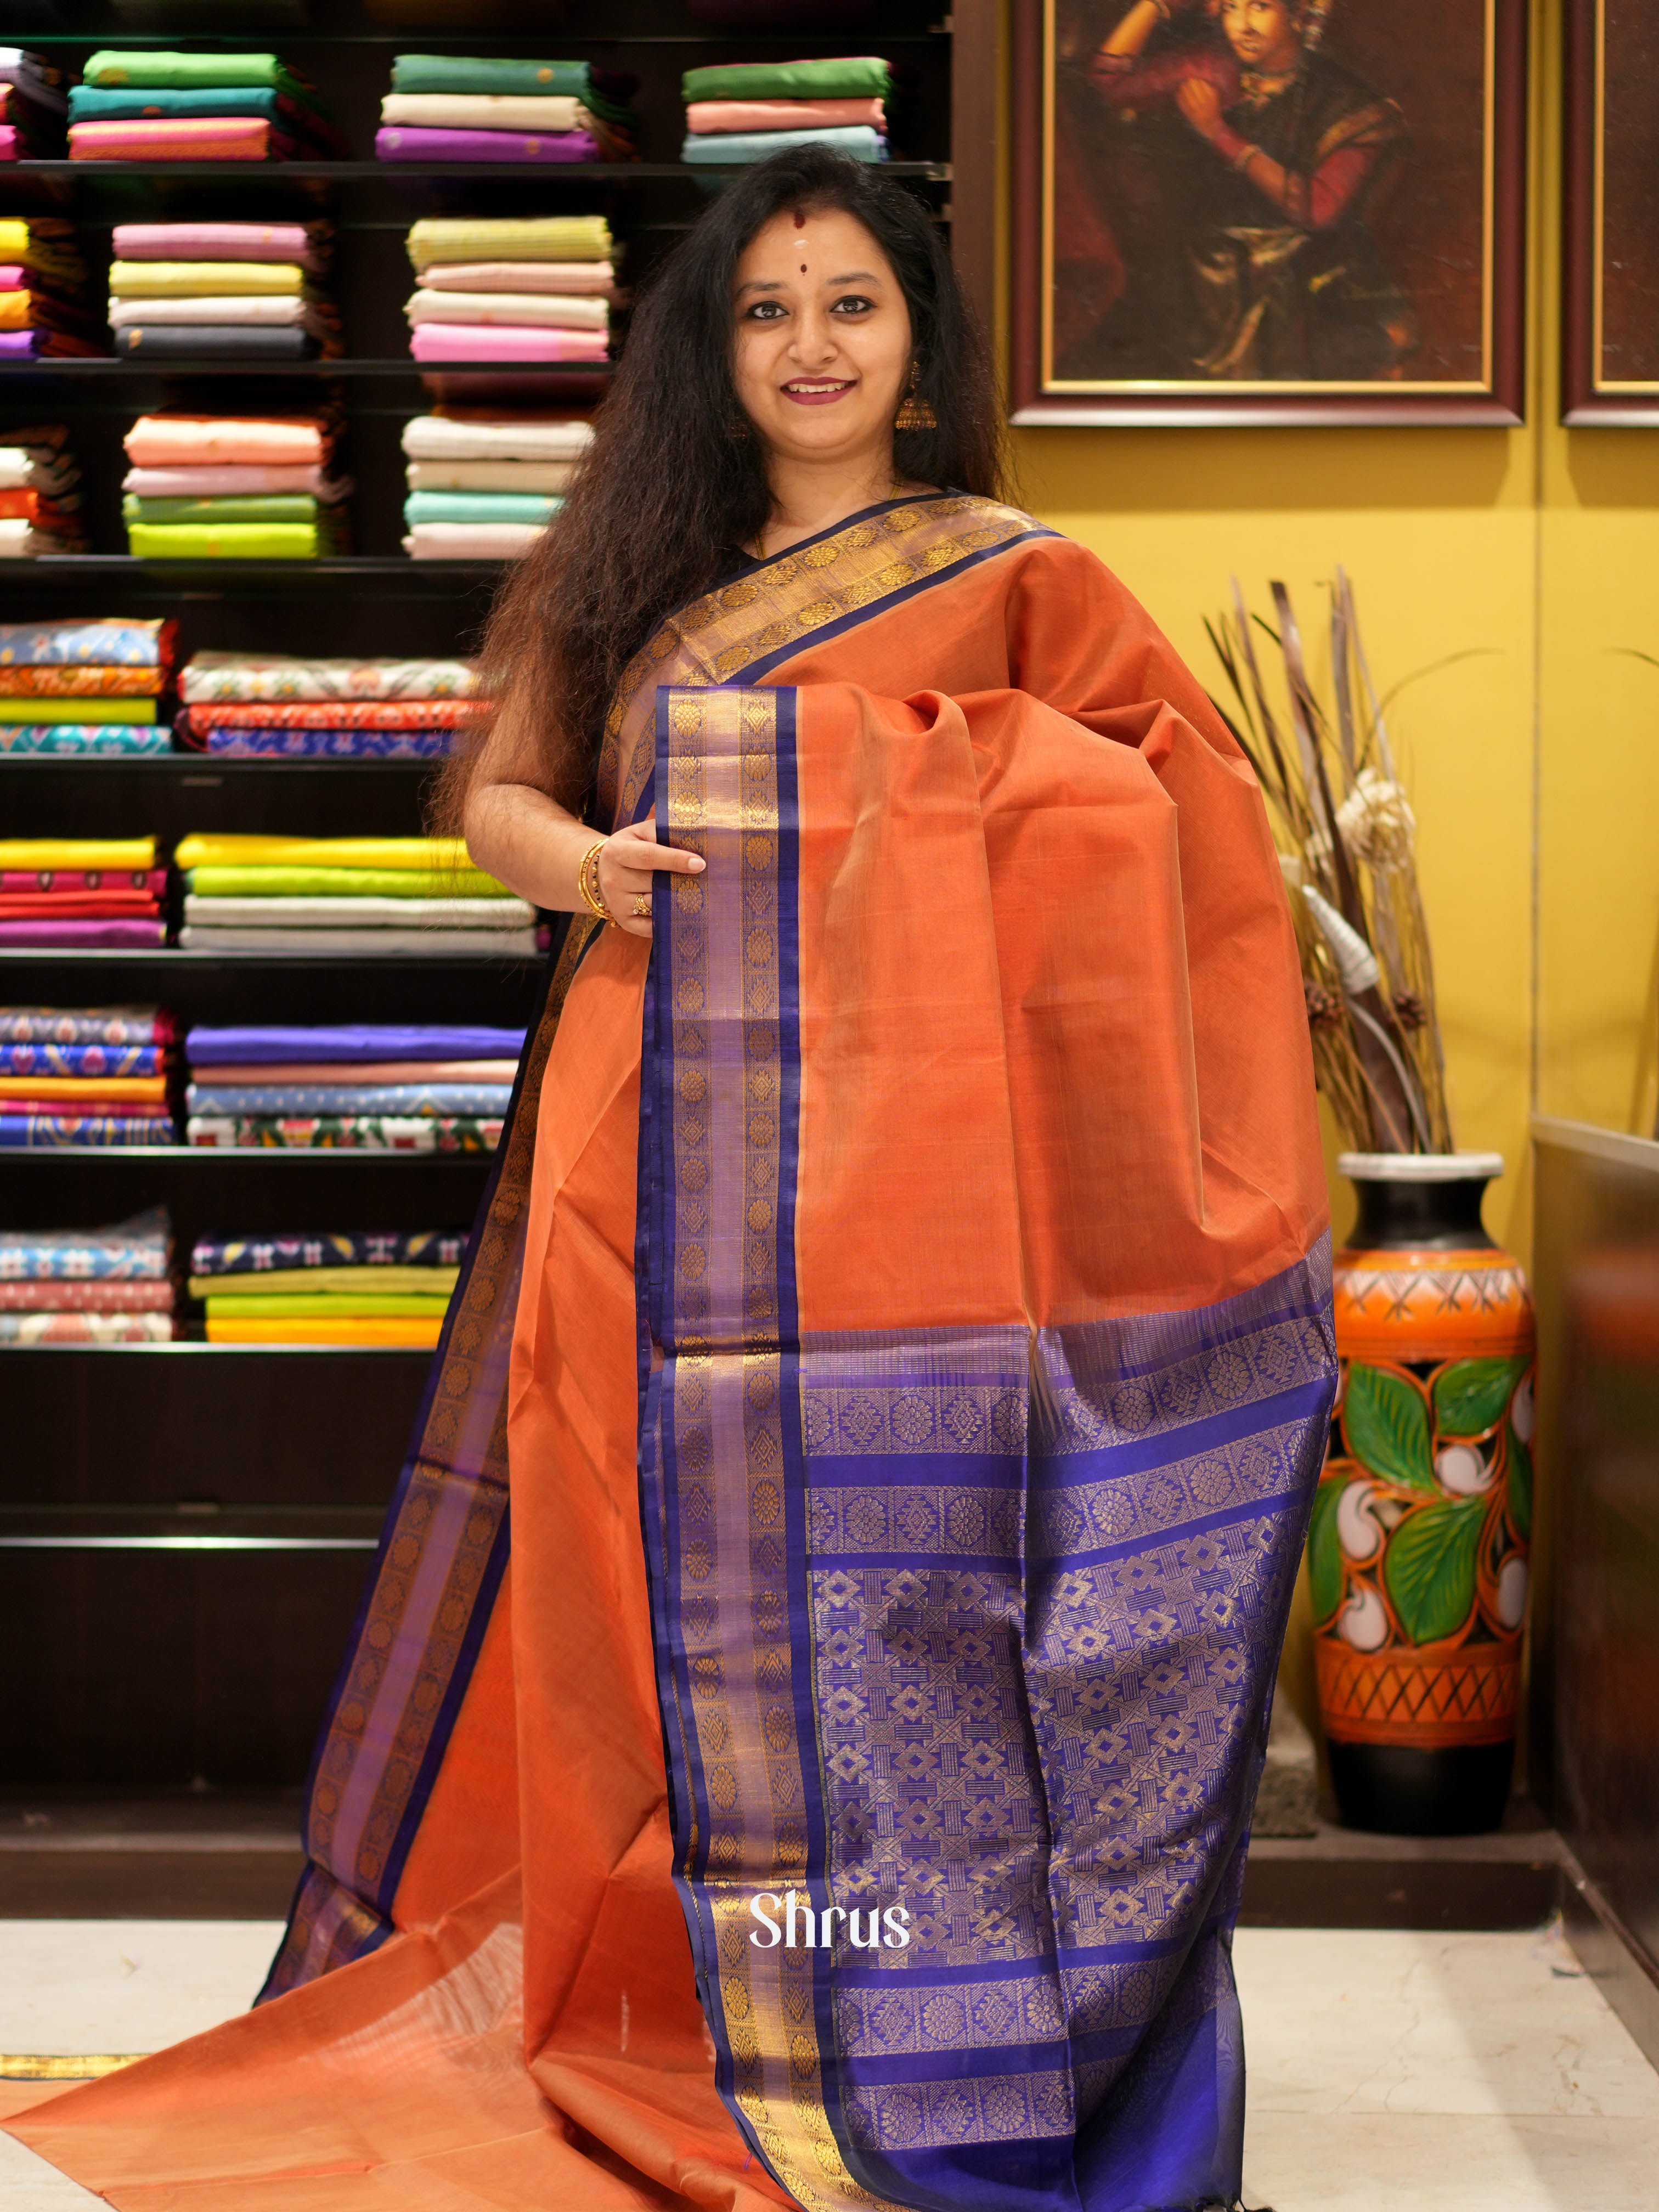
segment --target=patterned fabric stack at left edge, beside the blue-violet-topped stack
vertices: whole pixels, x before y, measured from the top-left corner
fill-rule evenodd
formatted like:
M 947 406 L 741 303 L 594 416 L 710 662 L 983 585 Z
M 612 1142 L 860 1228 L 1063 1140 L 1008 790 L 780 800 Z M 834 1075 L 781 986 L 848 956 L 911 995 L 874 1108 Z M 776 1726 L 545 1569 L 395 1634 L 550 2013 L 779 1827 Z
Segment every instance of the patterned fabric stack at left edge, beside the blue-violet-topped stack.
M 157 1006 L 0 1006 L 0 1146 L 173 1144 L 175 1037 Z

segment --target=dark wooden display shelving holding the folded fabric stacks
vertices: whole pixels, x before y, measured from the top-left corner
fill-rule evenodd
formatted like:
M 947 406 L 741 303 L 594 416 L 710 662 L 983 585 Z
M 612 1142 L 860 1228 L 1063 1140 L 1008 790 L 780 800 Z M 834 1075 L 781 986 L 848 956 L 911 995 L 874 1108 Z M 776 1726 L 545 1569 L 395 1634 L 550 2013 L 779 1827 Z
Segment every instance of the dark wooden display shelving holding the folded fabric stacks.
M 0 422 L 71 427 L 86 538 L 97 549 L 0 560 L 11 619 L 164 613 L 177 619 L 179 661 L 201 650 L 476 653 L 509 564 L 416 562 L 400 551 L 400 425 L 445 400 L 586 407 L 604 394 L 611 365 L 414 361 L 407 228 L 427 212 L 604 215 L 619 243 L 622 281 L 637 290 L 708 195 L 741 173 L 734 164 L 677 159 L 679 75 L 697 62 L 889 53 L 894 144 L 911 159 L 883 164 L 883 175 L 949 223 L 958 265 L 991 321 L 993 0 L 956 0 L 949 13 L 945 0 L 883 0 L 856 29 L 719 29 L 692 22 L 684 0 L 630 0 L 626 9 L 615 0 L 564 0 L 555 22 L 524 0 L 522 22 L 491 24 L 465 20 L 478 11 L 460 4 L 445 24 L 429 20 L 429 0 L 411 0 L 403 20 L 387 20 L 396 0 L 374 4 L 380 13 L 372 18 L 367 0 L 316 0 L 323 22 L 234 31 L 204 29 L 206 9 L 197 9 L 195 22 L 179 11 L 173 29 L 135 31 L 113 0 L 55 0 L 55 9 L 40 11 L 55 15 L 53 29 L 7 35 L 71 66 L 93 46 L 274 49 L 319 84 L 354 155 L 374 146 L 396 51 L 586 55 L 639 75 L 635 144 L 648 159 L 60 159 L 0 168 L 2 210 L 73 217 L 93 283 L 113 223 L 327 217 L 330 290 L 347 347 L 341 361 L 307 363 L 104 354 L 4 365 Z M 626 332 L 626 301 L 617 307 Z M 135 414 L 155 405 L 299 411 L 325 396 L 345 414 L 341 467 L 356 484 L 358 551 L 312 562 L 155 562 L 124 551 L 122 436 Z M 0 754 L 0 821 L 7 836 L 411 834 L 436 765 L 195 752 Z M 542 987 L 542 960 L 500 956 L 22 947 L 0 956 L 4 1004 L 131 1000 L 164 1004 L 184 1026 L 522 1026 Z M 476 1152 L 4 1148 L 0 1225 L 93 1228 L 166 1206 L 184 1254 L 212 1232 L 456 1228 L 473 1219 L 491 1168 L 493 1159 Z M 42 1686 L 7 1734 L 0 1787 L 299 1790 L 427 1369 L 427 1354 L 396 1347 L 243 1347 L 197 1336 L 170 1345 L 0 1349 L 0 1668 Z M 330 1540 L 352 1548 L 327 1548 Z M 299 1544 L 305 1548 L 276 1548 Z M 95 1860 L 104 1865 L 84 1849 L 64 1856 L 82 1874 Z M 177 1874 L 181 1858 L 161 1856 L 166 1880 L 157 1874 L 146 1896 L 175 1905 L 186 1898 L 188 1907 L 177 1909 L 197 1909 L 199 1880 Z M 119 1851 L 111 1867 L 117 1863 Z M 268 1909 L 281 1913 L 292 1858 L 270 1849 L 261 1867 L 276 1880 Z M 13 1863 L 7 1871 L 15 1871 Z M 35 1874 L 31 1896 L 69 1896 L 62 1867 Z M 250 1893 L 241 1876 L 219 1887 L 241 1909 Z

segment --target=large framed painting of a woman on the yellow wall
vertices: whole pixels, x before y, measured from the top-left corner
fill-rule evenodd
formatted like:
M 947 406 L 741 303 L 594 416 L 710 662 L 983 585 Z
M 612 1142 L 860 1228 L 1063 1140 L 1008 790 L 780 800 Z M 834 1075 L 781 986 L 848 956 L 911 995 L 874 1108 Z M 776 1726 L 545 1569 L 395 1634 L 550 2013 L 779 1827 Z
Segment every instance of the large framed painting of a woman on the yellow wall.
M 1015 422 L 1522 420 L 1526 0 L 1013 22 Z

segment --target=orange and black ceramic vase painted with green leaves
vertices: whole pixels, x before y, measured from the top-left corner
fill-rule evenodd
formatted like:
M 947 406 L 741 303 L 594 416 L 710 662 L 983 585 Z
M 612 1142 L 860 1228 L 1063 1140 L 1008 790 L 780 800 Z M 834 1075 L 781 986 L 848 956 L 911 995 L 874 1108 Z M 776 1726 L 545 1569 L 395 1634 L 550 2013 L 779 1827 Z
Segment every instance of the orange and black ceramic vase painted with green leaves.
M 1533 1301 L 1480 1221 L 1495 1152 L 1345 1152 L 1343 1385 L 1307 1537 L 1318 1701 L 1349 1827 L 1498 1827 L 1533 1528 Z

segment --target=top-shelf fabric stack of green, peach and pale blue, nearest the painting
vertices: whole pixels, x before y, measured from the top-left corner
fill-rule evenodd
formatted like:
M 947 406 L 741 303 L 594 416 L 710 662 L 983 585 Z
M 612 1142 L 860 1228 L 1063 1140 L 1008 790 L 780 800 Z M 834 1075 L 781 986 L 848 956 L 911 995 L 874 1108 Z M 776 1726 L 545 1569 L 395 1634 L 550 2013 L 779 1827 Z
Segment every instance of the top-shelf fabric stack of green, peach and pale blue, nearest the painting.
M 854 161 L 887 159 L 880 55 L 830 62 L 726 62 L 688 69 L 684 161 L 765 161 L 785 146 L 834 146 Z

